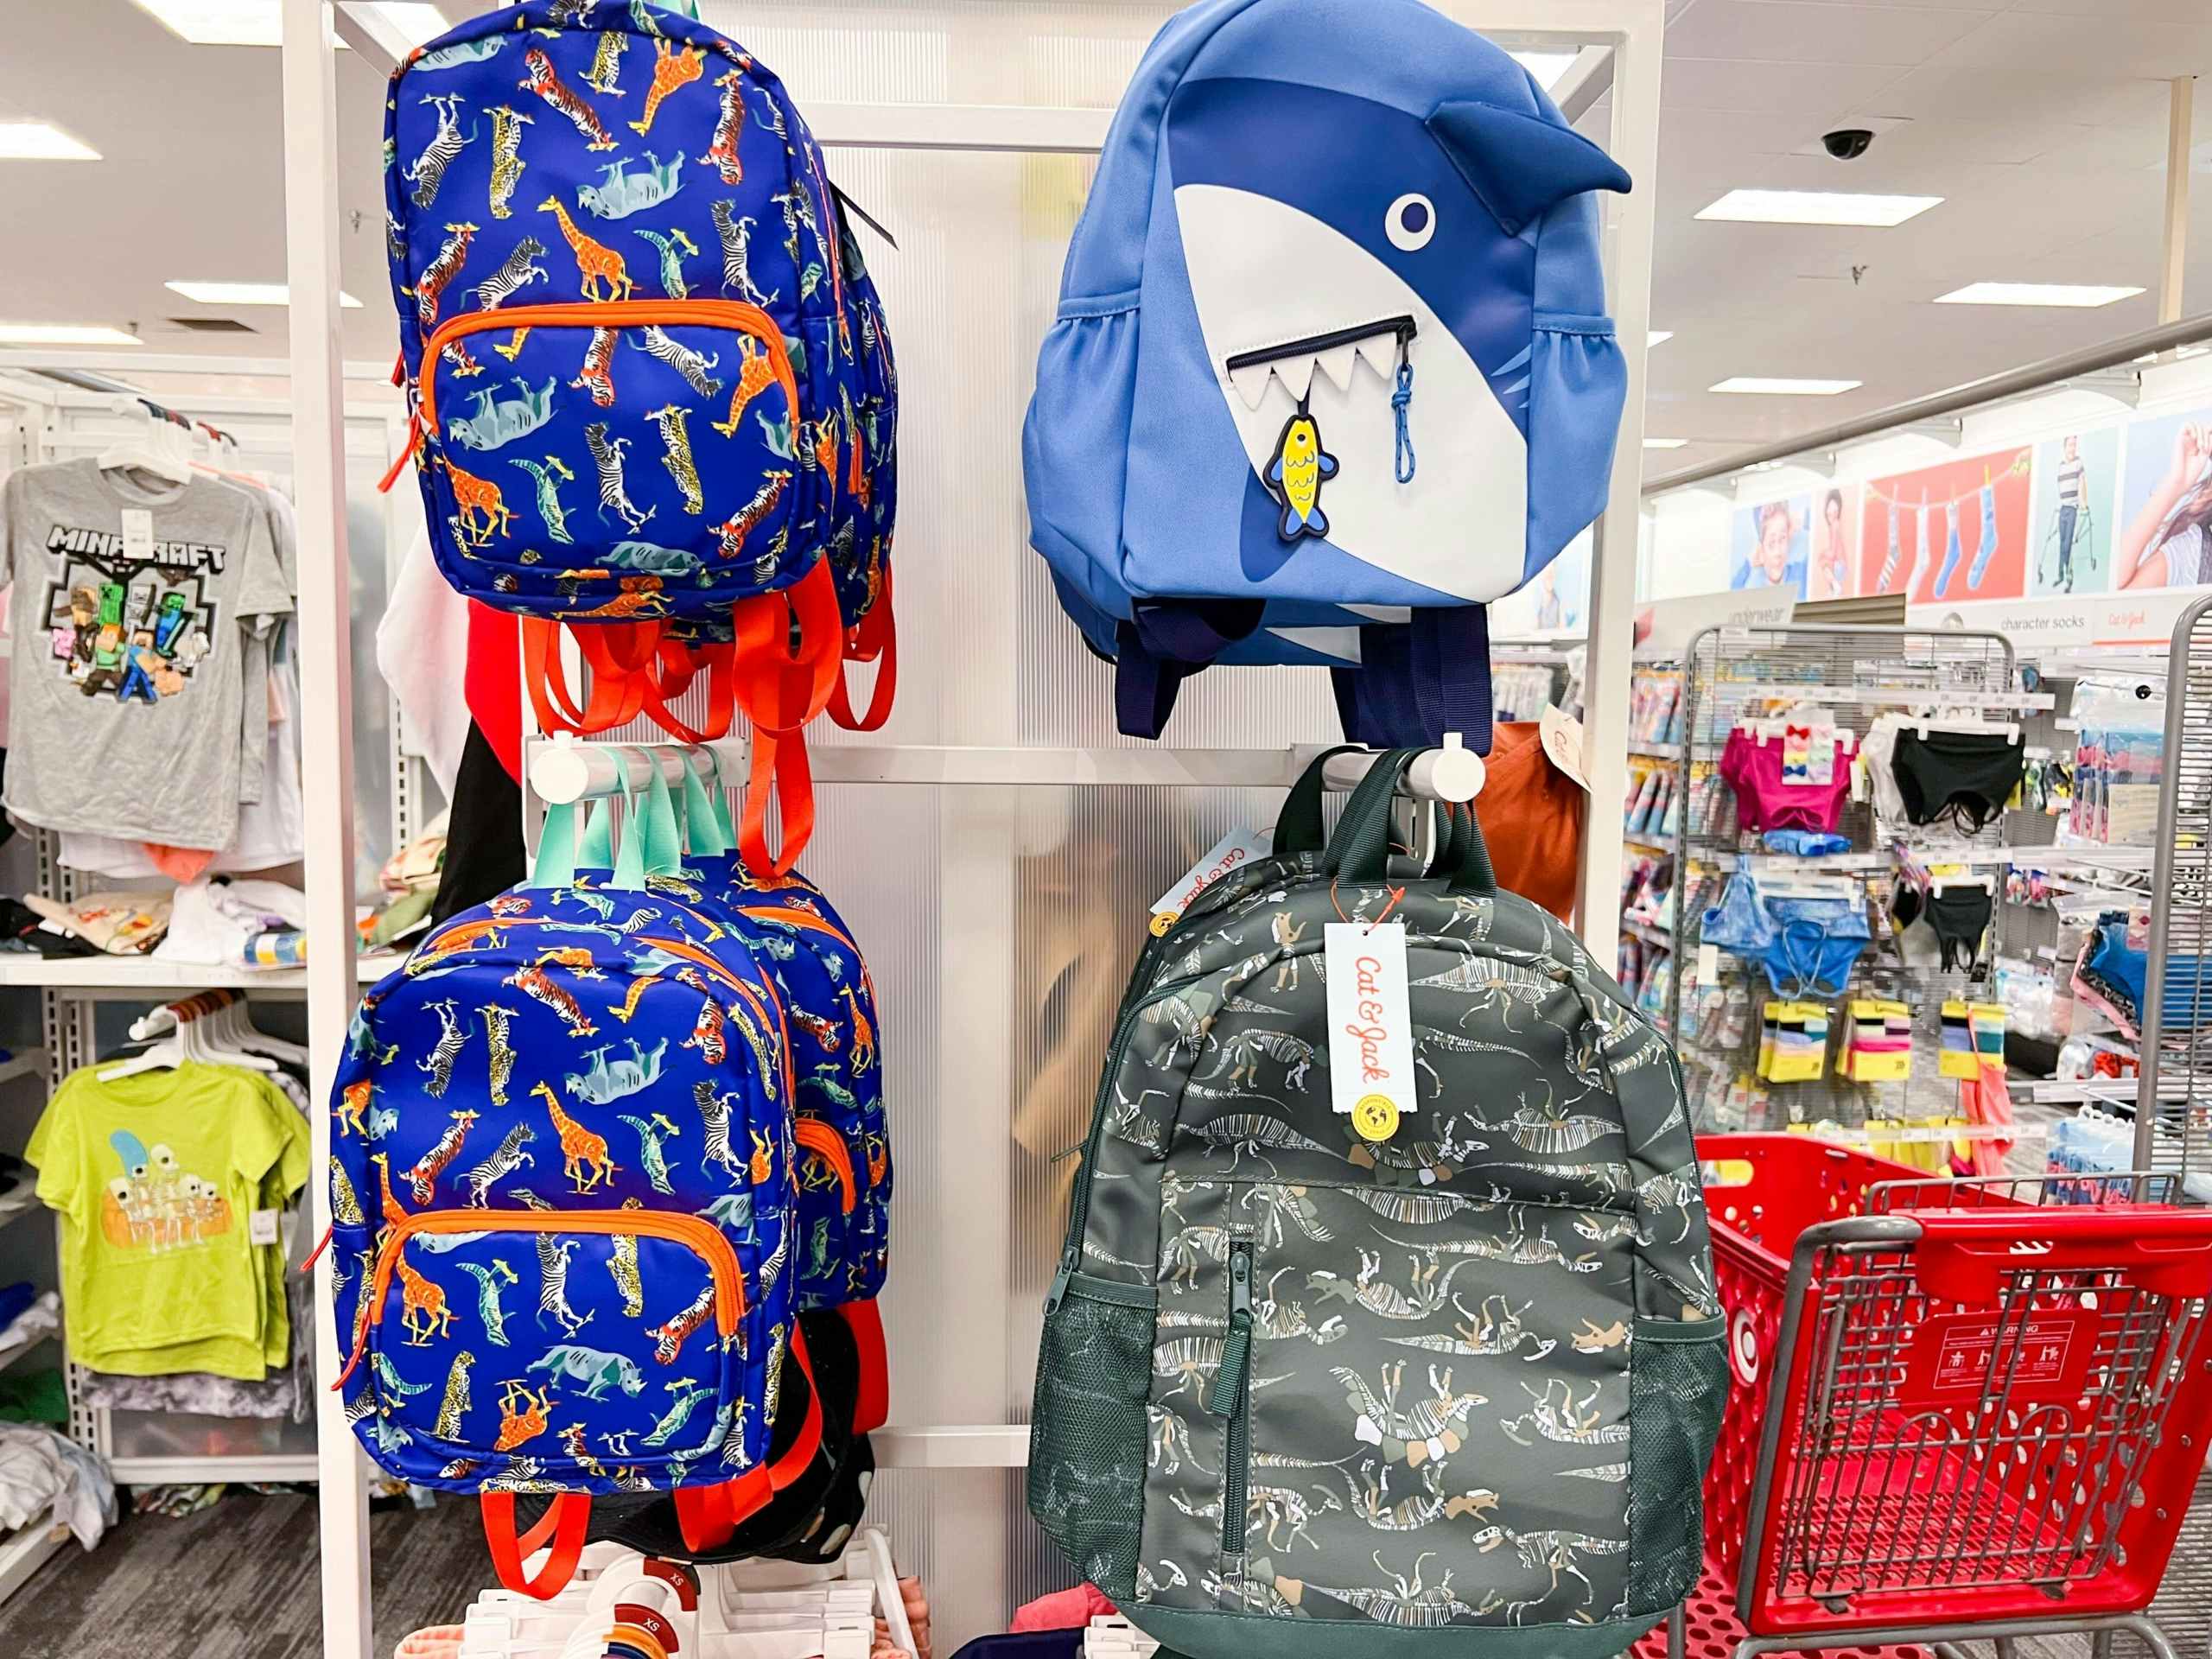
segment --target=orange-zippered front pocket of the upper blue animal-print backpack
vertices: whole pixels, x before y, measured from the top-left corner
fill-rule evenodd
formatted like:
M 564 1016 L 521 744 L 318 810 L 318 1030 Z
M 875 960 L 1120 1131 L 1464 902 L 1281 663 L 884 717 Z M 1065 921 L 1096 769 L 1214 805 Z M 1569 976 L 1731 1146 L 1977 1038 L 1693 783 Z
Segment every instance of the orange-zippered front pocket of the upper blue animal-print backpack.
M 787 586 L 821 434 L 757 305 L 465 312 L 422 352 L 434 538 L 577 619 L 699 615 Z M 482 586 L 478 573 L 458 577 Z

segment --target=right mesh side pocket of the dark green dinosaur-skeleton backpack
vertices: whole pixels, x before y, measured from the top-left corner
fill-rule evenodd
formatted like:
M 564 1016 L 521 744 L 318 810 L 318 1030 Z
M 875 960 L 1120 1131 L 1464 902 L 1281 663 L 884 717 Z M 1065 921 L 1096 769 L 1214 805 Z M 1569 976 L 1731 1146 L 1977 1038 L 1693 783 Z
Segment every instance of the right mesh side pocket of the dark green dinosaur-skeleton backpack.
M 1705 1464 L 1728 1402 L 1725 1321 L 1637 1321 L 1628 1367 L 1628 1608 L 1663 1613 L 1705 1555 Z

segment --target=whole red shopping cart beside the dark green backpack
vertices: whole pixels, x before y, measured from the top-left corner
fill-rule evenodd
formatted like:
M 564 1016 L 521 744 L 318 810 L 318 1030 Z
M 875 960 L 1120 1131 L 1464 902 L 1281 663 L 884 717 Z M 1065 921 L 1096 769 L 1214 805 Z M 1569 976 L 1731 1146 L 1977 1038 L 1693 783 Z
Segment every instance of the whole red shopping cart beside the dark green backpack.
M 1739 1387 L 1703 1595 L 1637 1652 L 2132 1630 L 2166 1659 L 2141 1615 L 2212 1427 L 2212 1212 L 1805 1137 L 1699 1155 Z

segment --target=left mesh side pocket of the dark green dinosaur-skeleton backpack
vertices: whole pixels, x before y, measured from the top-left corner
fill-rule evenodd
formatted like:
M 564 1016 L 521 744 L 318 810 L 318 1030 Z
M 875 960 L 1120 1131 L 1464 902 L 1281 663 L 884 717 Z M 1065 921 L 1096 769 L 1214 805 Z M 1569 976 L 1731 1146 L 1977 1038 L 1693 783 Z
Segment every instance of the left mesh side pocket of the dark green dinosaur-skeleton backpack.
M 1029 1513 L 1119 1604 L 1137 1599 L 1150 1389 L 1150 1292 L 1075 1279 L 1037 1347 Z

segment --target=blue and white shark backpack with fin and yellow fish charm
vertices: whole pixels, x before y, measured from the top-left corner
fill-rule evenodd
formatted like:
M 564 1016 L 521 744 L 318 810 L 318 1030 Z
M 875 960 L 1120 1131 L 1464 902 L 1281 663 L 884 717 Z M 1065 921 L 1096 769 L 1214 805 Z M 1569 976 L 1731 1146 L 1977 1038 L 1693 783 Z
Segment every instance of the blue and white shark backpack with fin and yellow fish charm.
M 1210 664 L 1323 664 L 1360 737 L 1489 748 L 1480 606 L 1606 500 L 1626 367 L 1593 192 L 1626 188 L 1418 0 L 1201 0 L 1159 31 L 1024 427 L 1031 544 L 1124 732 Z

